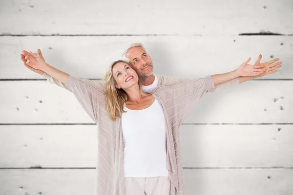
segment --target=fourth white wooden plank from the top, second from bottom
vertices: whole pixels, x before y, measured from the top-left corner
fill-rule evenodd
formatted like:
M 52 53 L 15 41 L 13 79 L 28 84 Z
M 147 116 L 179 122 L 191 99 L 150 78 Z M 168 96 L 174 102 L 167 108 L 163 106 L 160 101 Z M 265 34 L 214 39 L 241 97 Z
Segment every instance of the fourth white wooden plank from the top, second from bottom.
M 183 125 L 185 168 L 293 168 L 293 125 Z M 0 167 L 96 167 L 96 125 L 1 125 Z

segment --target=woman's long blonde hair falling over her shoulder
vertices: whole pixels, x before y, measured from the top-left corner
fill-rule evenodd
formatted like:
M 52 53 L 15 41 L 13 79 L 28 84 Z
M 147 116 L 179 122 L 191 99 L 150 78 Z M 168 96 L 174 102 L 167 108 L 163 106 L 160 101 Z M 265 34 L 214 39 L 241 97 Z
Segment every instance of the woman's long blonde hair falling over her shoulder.
M 117 89 L 115 87 L 116 81 L 113 77 L 112 69 L 119 62 L 124 62 L 128 64 L 131 68 L 133 68 L 129 64 L 129 62 L 125 60 L 117 60 L 117 61 L 114 61 L 109 66 L 105 74 L 105 101 L 106 101 L 107 112 L 109 114 L 109 117 L 112 120 L 116 120 L 116 118 L 120 117 L 122 113 L 126 113 L 123 110 L 123 108 L 124 108 L 124 103 L 128 100 L 128 96 L 126 92 L 122 88 Z M 138 85 L 139 85 L 139 90 L 141 94 L 148 95 L 147 93 L 143 92 L 143 87 L 140 80 L 138 81 Z

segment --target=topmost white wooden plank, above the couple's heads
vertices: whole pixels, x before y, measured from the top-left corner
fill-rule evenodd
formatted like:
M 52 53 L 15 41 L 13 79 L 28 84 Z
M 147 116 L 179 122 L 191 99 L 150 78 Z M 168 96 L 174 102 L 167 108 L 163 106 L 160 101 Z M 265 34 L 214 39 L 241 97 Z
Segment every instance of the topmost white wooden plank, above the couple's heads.
M 292 10 L 292 0 L 9 0 L 0 34 L 293 34 Z

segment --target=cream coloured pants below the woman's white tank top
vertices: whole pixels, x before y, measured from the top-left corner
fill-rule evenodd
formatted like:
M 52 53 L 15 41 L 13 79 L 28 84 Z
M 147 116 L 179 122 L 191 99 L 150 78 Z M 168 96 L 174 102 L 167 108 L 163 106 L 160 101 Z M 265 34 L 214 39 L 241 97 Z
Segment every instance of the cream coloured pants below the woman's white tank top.
M 168 176 L 126 177 L 126 195 L 170 195 Z

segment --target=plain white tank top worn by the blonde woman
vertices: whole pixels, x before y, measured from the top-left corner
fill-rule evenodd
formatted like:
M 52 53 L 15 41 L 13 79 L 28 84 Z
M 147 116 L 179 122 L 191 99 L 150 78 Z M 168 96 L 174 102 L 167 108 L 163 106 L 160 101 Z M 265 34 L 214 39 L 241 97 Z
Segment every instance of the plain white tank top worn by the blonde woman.
M 155 99 L 143 110 L 124 110 L 124 176 L 168 176 L 165 118 L 159 102 Z

